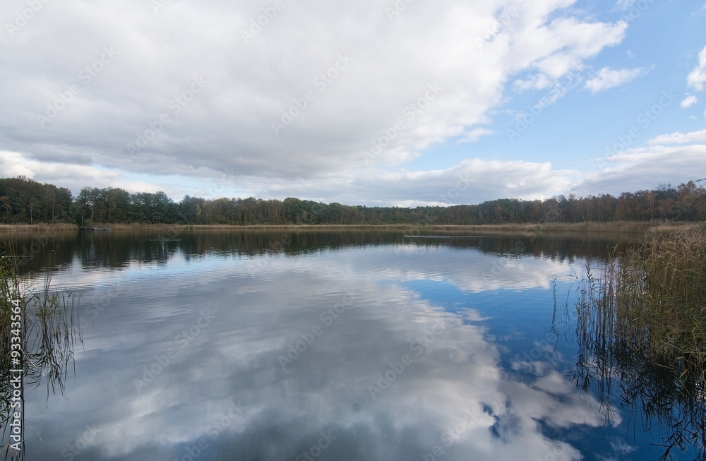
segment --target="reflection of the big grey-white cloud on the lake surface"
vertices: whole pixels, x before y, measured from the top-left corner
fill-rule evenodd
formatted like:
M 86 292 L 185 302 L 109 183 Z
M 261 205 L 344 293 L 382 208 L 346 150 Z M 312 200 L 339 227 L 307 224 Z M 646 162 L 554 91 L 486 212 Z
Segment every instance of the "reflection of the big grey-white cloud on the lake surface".
M 410 247 L 413 246 L 371 246 L 364 258 L 345 251 L 288 261 L 271 256 L 268 277 L 277 282 L 279 289 L 264 291 L 252 283 L 233 282 L 249 280 L 248 275 L 252 275 L 244 258 L 227 261 L 228 264 L 216 261 L 217 271 L 213 261 L 192 260 L 189 264 L 199 265 L 200 270 L 191 271 L 190 275 L 180 268 L 174 268 L 174 273 L 152 271 L 149 284 L 145 282 L 144 268 L 139 273 L 137 268 L 127 268 L 123 283 L 128 283 L 130 292 L 155 301 L 150 309 L 135 314 L 131 328 L 123 335 L 109 335 L 107 332 L 116 324 L 116 312 L 128 303 L 134 304 L 133 296 L 116 297 L 112 309 L 103 311 L 95 328 L 84 335 L 89 354 L 83 354 L 80 365 L 91 379 L 67 387 L 67 398 L 80 398 L 85 411 L 100 408 L 102 412 L 95 421 L 95 438 L 86 441 L 88 446 L 82 449 L 87 448 L 87 453 L 100 450 L 106 457 L 151 459 L 144 453 L 151 451 L 154 457 L 153 443 L 158 437 L 162 445 L 177 445 L 184 450 L 209 436 L 215 417 L 225 414 L 230 402 L 238 402 L 241 414 L 218 428 L 221 438 L 247 453 L 258 453 L 263 447 L 271 449 L 273 433 L 287 444 L 307 446 L 307 435 L 326 427 L 333 429 L 335 435 L 345 431 L 352 440 L 344 447 L 352 453 L 346 459 L 407 460 L 430 453 L 442 443 L 443 433 L 463 421 L 462 431 L 454 433 L 453 448 L 448 446 L 450 460 L 544 459 L 547 453 L 556 460 L 579 459 L 579 450 L 547 435 L 538 421 L 554 428 L 599 428 L 605 424 L 605 413 L 597 410 L 600 405 L 595 397 L 576 393 L 570 378 L 549 371 L 549 355 L 537 359 L 548 371 L 522 376 L 521 380 L 508 379 L 499 367 L 504 358 L 503 343 L 489 341 L 484 325 L 463 322 L 465 316 L 479 318 L 477 311 L 443 311 L 420 298 L 414 289 L 405 287 L 408 280 L 469 280 L 472 286 L 478 286 L 480 273 L 491 267 L 488 258 L 481 252 L 469 255 Z M 416 256 L 400 253 L 409 250 L 424 252 L 425 261 L 430 264 L 424 274 L 408 264 L 412 259 L 417 261 Z M 537 274 L 546 274 L 551 268 L 562 275 L 570 270 L 568 262 L 557 263 L 551 258 L 522 258 L 519 262 L 536 279 Z M 331 276 L 332 264 L 341 268 L 337 277 Z M 294 272 L 292 265 L 297 268 Z M 341 276 L 346 273 L 347 277 Z M 515 274 L 508 271 L 508 277 Z M 500 275 L 497 278 L 504 279 Z M 542 287 L 549 284 L 546 276 L 544 279 Z M 178 286 L 179 291 L 157 300 L 156 294 L 150 292 L 155 280 Z M 305 285 L 323 288 L 301 299 L 283 301 L 282 293 Z M 517 285 L 503 280 L 501 286 Z M 126 364 L 119 363 L 120 357 L 171 347 L 172 335 L 155 334 L 150 325 L 173 314 L 175 303 L 198 303 L 206 292 L 217 294 L 208 306 L 217 321 L 206 327 L 207 340 L 201 340 L 202 335 L 181 350 L 177 361 L 160 369 L 159 377 L 137 393 L 134 383 L 143 376 L 143 366 L 150 366 L 154 359 L 139 357 Z M 289 345 L 299 339 L 301 332 L 311 330 L 312 318 L 308 314 L 328 308 L 330 299 L 344 292 L 355 293 L 355 309 L 349 309 L 326 327 L 325 334 L 316 339 L 316 346 L 306 349 L 282 371 L 278 356 L 287 354 Z M 88 290 L 84 300 L 90 303 L 104 293 L 103 289 Z M 230 309 L 236 298 L 244 306 L 260 309 L 243 309 L 236 315 Z M 198 313 L 193 318 L 186 316 L 184 322 L 197 318 Z M 263 325 L 263 318 L 268 319 L 264 335 L 263 328 L 253 328 Z M 423 337 L 433 325 L 443 325 L 443 330 L 424 343 L 424 353 L 409 352 L 413 338 Z M 349 331 L 357 332 L 357 336 L 350 337 L 346 334 Z M 383 359 L 396 363 L 402 354 L 409 354 L 413 365 L 400 371 L 394 383 L 371 400 L 369 385 L 376 385 L 378 373 L 387 370 Z M 507 355 L 511 361 L 516 360 Z M 323 361 L 330 366 L 322 367 Z M 179 398 L 199 395 L 206 378 L 208 395 L 197 403 Z M 109 400 L 104 396 L 106 388 L 114 390 Z M 42 398 L 38 394 L 33 394 L 35 402 Z M 66 419 L 65 414 L 50 412 L 38 422 L 37 431 L 45 433 L 60 418 Z M 387 417 L 381 418 L 381 414 Z M 467 414 L 470 418 L 466 418 Z M 59 453 L 69 443 L 75 443 L 76 434 L 84 429 L 81 421 L 66 419 L 64 430 L 51 441 L 59 448 L 41 444 L 42 455 Z M 503 427 L 508 431 L 503 431 Z M 498 429 L 503 431 L 502 438 L 494 435 Z M 421 434 L 411 444 L 411 450 L 405 433 Z M 447 445 L 442 446 L 447 449 Z M 290 453 L 282 454 L 281 447 L 279 450 L 277 459 L 294 458 Z M 452 450 L 462 455 L 452 455 Z M 49 457 L 44 455 L 42 459 Z

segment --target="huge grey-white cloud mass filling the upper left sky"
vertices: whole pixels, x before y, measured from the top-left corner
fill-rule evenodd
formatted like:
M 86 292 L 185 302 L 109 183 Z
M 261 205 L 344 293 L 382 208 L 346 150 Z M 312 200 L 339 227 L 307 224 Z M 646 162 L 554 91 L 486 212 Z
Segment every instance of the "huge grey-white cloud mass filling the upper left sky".
M 49 3 L 12 39 L 0 39 L 0 140 L 26 160 L 93 168 L 76 170 L 79 179 L 99 176 L 90 185 L 106 184 L 111 176 L 97 173 L 105 171 L 121 176 L 113 186 L 138 174 L 204 180 L 234 172 L 234 181 L 257 178 L 250 190 L 266 192 L 280 182 L 347 175 L 350 159 L 401 121 L 375 162 L 398 168 L 445 140 L 486 134 L 477 126 L 489 123 L 517 74 L 544 76 L 534 85 L 549 88 L 623 40 L 625 23 L 588 18 L 568 8 L 573 3 L 518 8 L 480 49 L 469 31 L 496 22 L 497 4 L 415 3 L 389 20 L 373 0 L 335 7 L 306 0 L 285 4 L 244 43 L 241 32 L 262 14 L 259 6 L 181 1 L 155 15 L 149 2 Z M 90 82 L 80 78 L 104 47 L 116 50 L 112 61 L 99 63 Z M 338 56 L 346 54 L 352 60 L 344 66 Z M 191 94 L 198 76 L 208 83 Z M 429 92 L 434 83 L 438 94 Z M 71 85 L 80 92 L 65 104 Z M 41 128 L 47 104 L 61 109 Z M 290 109 L 301 114 L 275 136 L 273 121 Z M 161 128 L 160 114 L 169 118 Z M 127 152 L 139 134 L 151 136 L 150 123 L 160 133 Z

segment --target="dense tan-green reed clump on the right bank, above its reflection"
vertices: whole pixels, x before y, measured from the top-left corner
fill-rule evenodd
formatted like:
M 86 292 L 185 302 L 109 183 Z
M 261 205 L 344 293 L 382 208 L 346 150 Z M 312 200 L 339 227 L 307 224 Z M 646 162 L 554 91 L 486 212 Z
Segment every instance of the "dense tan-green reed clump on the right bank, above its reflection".
M 611 258 L 601 291 L 616 334 L 671 361 L 674 369 L 706 364 L 706 227 L 654 234 Z

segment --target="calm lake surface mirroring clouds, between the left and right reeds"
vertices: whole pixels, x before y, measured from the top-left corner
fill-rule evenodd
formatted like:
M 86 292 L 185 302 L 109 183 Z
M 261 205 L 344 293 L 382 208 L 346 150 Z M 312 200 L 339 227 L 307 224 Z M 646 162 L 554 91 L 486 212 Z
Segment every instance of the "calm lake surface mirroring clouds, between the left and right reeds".
M 27 459 L 664 452 L 668 428 L 618 405 L 606 419 L 572 379 L 575 278 L 626 238 L 409 233 L 18 239 L 26 268 L 80 293 L 83 325 L 65 395 L 26 393 Z

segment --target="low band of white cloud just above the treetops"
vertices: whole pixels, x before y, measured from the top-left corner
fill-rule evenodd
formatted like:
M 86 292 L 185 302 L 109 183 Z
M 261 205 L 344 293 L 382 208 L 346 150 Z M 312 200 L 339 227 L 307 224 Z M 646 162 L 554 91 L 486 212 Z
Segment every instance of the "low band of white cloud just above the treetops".
M 25 174 L 40 182 L 67 186 L 74 193 L 90 184 L 131 192 L 162 190 L 174 200 L 186 194 L 206 198 L 294 196 L 326 203 L 414 207 L 481 203 L 506 197 L 533 200 L 568 192 L 578 196 L 619 194 L 688 181 L 695 165 L 706 162 L 706 130 L 665 134 L 647 142 L 652 147 L 633 148 L 602 159 L 598 172 L 554 169 L 549 162 L 480 158 L 462 160 L 446 169 L 390 171 L 364 167 L 355 158 L 347 169 L 306 181 L 222 174 L 216 182 L 202 181 L 193 187 L 186 186 L 179 177 L 133 176 L 78 163 L 38 162 L 5 151 L 0 151 L 0 170 L 7 176 Z M 674 147 L 675 144 L 688 146 Z M 194 170 L 191 175 L 217 176 L 216 172 L 201 170 Z

